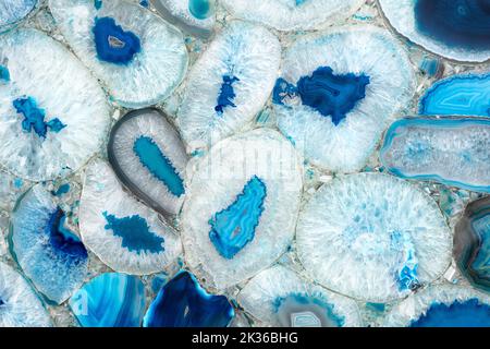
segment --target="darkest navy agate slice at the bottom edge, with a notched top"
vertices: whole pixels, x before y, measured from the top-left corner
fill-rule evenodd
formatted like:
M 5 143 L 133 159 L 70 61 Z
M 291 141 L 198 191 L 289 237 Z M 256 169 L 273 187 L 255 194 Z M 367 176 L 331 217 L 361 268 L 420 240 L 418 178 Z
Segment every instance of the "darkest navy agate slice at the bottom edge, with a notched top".
M 192 274 L 181 272 L 158 292 L 143 326 L 226 327 L 233 316 L 226 297 L 209 294 Z

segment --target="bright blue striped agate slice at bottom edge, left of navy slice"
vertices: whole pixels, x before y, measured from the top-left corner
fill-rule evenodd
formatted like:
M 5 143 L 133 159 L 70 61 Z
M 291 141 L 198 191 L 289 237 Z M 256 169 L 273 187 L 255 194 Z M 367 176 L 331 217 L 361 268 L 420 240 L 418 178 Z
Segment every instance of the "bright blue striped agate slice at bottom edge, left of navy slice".
M 145 314 L 145 286 L 135 276 L 106 273 L 70 299 L 83 327 L 139 327 Z

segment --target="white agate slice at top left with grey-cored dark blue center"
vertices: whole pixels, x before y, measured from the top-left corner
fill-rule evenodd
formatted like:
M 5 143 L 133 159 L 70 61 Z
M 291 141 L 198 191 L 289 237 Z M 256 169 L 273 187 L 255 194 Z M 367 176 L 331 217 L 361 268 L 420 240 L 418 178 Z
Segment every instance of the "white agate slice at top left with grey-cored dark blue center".
M 182 34 L 144 7 L 123 0 L 50 0 L 49 5 L 75 53 L 121 106 L 154 105 L 184 77 Z

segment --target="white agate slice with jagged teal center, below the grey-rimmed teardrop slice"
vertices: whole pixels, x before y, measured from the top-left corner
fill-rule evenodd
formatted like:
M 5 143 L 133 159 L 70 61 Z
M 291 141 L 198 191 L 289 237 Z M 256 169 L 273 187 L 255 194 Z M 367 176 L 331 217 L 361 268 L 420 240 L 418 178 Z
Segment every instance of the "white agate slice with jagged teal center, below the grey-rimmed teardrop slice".
M 78 217 L 84 244 L 117 272 L 161 272 L 182 251 L 176 232 L 127 194 L 99 159 L 85 171 Z

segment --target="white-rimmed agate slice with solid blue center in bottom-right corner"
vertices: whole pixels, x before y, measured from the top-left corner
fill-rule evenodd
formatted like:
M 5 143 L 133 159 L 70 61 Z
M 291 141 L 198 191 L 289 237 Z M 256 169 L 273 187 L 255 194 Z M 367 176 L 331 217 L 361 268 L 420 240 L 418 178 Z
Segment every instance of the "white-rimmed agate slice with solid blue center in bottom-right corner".
M 432 286 L 388 314 L 388 327 L 489 327 L 490 297 L 471 288 Z

